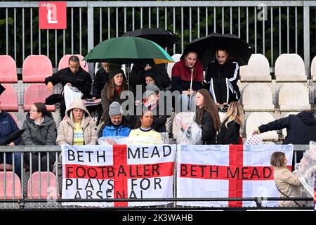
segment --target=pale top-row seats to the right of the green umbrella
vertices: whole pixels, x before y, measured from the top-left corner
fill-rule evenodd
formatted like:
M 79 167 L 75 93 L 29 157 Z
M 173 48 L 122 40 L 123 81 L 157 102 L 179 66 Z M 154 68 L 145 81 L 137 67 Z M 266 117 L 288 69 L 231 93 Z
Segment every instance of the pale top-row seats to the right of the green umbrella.
M 181 54 L 172 56 L 175 62 Z M 171 77 L 174 63 L 168 63 L 167 72 Z M 311 64 L 312 81 L 316 81 L 316 56 Z M 306 82 L 304 61 L 298 54 L 281 54 L 275 61 L 275 79 L 277 82 Z M 271 82 L 269 61 L 262 54 L 252 54 L 248 65 L 240 67 L 241 82 Z

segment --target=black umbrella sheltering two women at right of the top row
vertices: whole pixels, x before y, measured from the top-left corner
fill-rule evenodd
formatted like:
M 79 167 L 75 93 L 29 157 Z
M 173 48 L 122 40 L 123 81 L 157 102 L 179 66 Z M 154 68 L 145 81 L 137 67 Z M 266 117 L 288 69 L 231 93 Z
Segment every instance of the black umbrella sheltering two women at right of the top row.
M 188 51 L 196 51 L 199 60 L 206 68 L 211 61 L 215 60 L 215 52 L 218 46 L 225 46 L 230 56 L 237 60 L 239 66 L 248 64 L 252 49 L 246 41 L 234 34 L 209 34 L 206 37 L 195 39 L 186 46 L 183 56 Z

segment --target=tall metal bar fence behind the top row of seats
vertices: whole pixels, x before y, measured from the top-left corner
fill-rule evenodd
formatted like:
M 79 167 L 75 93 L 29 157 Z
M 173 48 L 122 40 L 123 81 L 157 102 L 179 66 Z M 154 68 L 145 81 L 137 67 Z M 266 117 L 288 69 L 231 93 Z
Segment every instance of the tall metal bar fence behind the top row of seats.
M 70 1 L 67 30 L 39 30 L 38 1 L 0 2 L 0 54 L 13 56 L 18 68 L 29 54 L 45 54 L 56 68 L 67 53 L 85 55 L 128 30 L 162 27 L 181 39 L 167 49 L 171 55 L 197 37 L 232 33 L 263 53 L 272 72 L 281 53 L 298 53 L 308 72 L 316 55 L 315 6 L 316 1 Z

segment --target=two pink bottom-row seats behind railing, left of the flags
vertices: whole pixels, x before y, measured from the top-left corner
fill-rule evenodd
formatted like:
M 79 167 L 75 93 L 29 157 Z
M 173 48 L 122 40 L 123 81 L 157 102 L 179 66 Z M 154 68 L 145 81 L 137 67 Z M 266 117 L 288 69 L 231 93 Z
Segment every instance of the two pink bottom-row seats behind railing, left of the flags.
M 6 179 L 6 188 L 4 188 Z M 49 180 L 49 184 L 48 184 Z M 40 184 L 40 185 L 39 185 Z M 58 182 L 52 172 L 34 172 L 27 182 L 27 198 L 56 199 L 59 198 Z M 57 188 L 56 188 L 57 187 Z M 39 188 L 41 190 L 39 190 Z M 6 193 L 5 193 L 6 191 Z M 14 193 L 13 193 L 14 191 Z M 17 174 L 0 171 L 0 199 L 21 199 L 21 181 Z

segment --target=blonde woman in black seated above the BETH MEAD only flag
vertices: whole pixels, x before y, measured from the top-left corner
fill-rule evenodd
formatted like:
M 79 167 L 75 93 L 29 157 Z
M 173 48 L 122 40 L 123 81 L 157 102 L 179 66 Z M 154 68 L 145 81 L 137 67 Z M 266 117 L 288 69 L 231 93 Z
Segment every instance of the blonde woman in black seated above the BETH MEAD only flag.
M 244 124 L 244 110 L 237 101 L 230 103 L 228 112 L 220 125 L 217 143 L 222 145 L 239 144 L 239 131 Z

